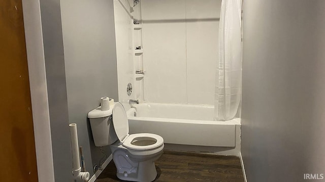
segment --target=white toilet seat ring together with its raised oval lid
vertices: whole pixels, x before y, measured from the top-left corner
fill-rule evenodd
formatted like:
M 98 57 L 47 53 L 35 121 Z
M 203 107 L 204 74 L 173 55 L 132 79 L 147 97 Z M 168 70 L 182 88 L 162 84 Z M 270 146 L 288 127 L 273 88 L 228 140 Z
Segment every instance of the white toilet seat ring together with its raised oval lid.
M 114 129 L 120 144 L 127 149 L 150 150 L 164 144 L 164 139 L 152 133 L 128 134 L 128 120 L 125 109 L 120 102 L 115 103 L 112 113 Z M 154 143 L 153 143 L 154 142 Z M 136 143 L 140 143 L 137 145 Z M 147 145 L 145 143 L 148 143 Z

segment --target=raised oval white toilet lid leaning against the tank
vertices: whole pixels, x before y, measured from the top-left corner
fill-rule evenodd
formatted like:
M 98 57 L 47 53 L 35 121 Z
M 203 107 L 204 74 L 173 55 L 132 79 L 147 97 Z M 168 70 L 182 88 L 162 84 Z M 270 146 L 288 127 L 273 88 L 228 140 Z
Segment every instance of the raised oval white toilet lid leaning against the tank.
M 112 117 L 117 138 L 122 141 L 128 134 L 128 120 L 125 109 L 120 102 L 115 103 Z

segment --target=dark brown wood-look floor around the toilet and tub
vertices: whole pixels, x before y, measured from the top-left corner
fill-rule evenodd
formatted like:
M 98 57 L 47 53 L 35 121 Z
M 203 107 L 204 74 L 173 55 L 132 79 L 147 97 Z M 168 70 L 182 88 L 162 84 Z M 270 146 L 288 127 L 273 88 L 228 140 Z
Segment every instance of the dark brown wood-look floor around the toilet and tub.
M 239 157 L 164 151 L 155 162 L 154 181 L 243 182 Z M 116 177 L 113 160 L 95 182 L 123 181 Z

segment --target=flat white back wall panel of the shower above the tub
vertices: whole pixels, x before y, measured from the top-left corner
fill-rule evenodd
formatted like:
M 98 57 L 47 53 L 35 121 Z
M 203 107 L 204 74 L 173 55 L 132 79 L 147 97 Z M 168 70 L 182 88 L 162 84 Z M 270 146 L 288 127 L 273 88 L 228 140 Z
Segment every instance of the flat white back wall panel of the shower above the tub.
M 214 105 L 221 0 L 142 0 L 145 99 Z

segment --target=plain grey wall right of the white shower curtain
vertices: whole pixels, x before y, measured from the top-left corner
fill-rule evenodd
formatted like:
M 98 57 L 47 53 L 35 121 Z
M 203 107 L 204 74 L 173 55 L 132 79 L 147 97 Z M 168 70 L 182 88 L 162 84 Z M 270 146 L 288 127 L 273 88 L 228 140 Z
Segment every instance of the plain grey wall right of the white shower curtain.
M 314 181 L 304 173 L 325 173 L 325 1 L 244 1 L 243 17 L 247 180 Z

